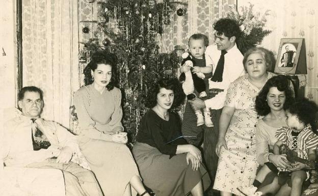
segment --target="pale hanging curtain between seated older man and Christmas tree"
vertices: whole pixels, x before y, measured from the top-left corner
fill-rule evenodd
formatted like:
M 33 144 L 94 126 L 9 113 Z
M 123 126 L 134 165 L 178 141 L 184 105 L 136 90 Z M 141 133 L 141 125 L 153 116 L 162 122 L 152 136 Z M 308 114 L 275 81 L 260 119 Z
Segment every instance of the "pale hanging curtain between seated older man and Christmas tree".
M 22 82 L 42 89 L 42 117 L 69 127 L 78 89 L 77 0 L 22 1 Z

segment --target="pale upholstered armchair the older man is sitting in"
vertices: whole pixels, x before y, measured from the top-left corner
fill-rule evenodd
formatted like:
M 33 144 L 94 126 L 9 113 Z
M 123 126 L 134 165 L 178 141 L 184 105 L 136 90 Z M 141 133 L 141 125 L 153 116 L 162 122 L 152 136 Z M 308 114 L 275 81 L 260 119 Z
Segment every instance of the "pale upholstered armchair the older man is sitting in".
M 3 124 L 20 114 L 15 107 L 0 109 L 0 133 Z M 1 134 L 0 134 L 1 136 Z M 1 145 L 1 144 L 0 144 Z M 0 162 L 5 156 L 0 146 Z M 73 155 L 71 161 L 86 169 L 90 167 L 80 149 Z M 65 184 L 62 171 L 57 169 L 36 169 L 26 167 L 3 166 L 0 168 L 0 195 L 6 196 L 65 196 Z

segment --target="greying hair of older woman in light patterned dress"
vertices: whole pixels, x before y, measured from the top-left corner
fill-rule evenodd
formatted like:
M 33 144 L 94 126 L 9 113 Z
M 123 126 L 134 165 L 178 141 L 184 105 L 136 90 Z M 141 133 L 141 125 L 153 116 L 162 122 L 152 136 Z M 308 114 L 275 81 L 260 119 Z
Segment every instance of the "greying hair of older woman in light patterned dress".
M 260 53 L 262 55 L 262 58 L 265 60 L 265 63 L 266 63 L 266 71 L 271 71 L 273 68 L 273 63 L 274 63 L 272 58 L 272 53 L 271 51 L 263 47 L 252 47 L 244 53 L 243 65 L 244 65 L 245 71 L 247 71 L 246 69 L 247 59 L 251 54 L 254 54 L 254 53 Z

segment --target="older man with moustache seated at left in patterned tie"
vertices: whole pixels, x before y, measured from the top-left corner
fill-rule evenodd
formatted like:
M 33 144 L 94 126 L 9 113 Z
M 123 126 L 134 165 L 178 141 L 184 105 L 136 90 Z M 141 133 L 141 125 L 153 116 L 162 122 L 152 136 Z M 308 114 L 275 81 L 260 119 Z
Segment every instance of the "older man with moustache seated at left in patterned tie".
M 66 196 L 102 195 L 94 174 L 70 161 L 78 149 L 75 136 L 58 123 L 40 118 L 42 91 L 22 88 L 18 106 L 22 114 L 4 126 L 5 165 L 58 169 L 64 175 Z

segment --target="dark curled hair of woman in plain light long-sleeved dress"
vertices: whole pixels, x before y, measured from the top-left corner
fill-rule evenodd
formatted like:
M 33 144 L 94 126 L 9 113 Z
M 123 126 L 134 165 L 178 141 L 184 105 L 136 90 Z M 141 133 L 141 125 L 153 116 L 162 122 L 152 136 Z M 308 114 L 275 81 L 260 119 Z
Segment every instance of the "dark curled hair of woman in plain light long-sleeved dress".
M 97 51 L 93 53 L 91 61 L 87 64 L 84 69 L 84 83 L 85 86 L 90 85 L 94 82 L 91 71 L 95 71 L 99 64 L 110 65 L 112 67 L 112 78 L 106 86 L 107 90 L 110 91 L 116 86 L 116 55 L 107 51 Z

